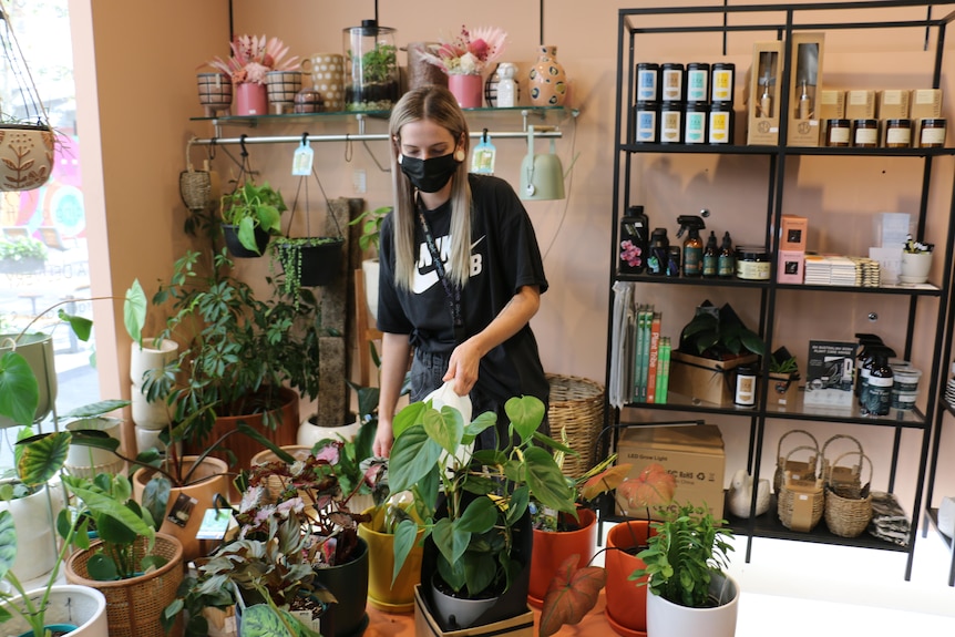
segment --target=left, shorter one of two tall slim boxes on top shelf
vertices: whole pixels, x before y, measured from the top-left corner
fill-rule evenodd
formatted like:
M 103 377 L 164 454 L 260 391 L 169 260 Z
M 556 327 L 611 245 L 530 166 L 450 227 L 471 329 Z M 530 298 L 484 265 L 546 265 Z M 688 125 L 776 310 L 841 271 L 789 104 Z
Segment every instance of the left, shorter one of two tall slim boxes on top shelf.
M 747 102 L 748 145 L 779 144 L 779 103 L 782 84 L 782 42 L 754 42 Z

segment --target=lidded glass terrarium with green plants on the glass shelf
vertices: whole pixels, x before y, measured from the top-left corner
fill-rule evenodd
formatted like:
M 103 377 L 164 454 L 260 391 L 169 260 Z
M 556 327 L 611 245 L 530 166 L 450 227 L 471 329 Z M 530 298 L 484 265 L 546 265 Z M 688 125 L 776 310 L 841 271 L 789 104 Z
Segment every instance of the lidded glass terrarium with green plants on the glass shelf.
M 399 97 L 398 47 L 394 29 L 362 20 L 342 30 L 346 68 L 346 111 L 389 111 Z

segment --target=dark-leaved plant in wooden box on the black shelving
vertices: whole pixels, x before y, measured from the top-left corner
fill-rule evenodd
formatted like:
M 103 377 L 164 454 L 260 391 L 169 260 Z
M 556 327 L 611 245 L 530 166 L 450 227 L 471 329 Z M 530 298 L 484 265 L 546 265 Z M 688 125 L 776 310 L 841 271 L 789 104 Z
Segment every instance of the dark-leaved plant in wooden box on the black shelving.
M 717 308 L 707 300 L 697 308 L 692 320 L 680 332 L 679 350 L 723 360 L 743 351 L 762 356 L 764 345 L 758 333 L 743 325 L 729 304 Z

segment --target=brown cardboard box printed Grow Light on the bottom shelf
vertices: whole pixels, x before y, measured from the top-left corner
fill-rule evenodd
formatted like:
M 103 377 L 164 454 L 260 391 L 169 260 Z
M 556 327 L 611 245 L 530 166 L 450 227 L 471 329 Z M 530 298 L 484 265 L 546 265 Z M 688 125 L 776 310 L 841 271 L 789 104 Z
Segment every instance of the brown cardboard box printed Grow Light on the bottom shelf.
M 636 477 L 650 463 L 663 465 L 676 480 L 674 503 L 706 506 L 713 517 L 723 515 L 723 473 L 726 453 L 722 434 L 715 424 L 678 427 L 630 427 L 623 430 L 617 443 L 617 462 L 629 463 L 629 477 Z M 618 499 L 619 500 L 619 499 Z M 646 517 L 646 507 L 633 511 L 618 503 L 620 513 Z M 650 510 L 659 520 L 659 513 Z

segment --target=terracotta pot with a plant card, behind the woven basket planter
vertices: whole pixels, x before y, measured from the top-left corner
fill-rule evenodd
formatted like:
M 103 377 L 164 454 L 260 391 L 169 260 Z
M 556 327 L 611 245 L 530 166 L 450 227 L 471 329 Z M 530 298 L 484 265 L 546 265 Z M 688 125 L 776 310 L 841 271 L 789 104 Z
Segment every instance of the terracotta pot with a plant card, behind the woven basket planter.
M 183 466 L 188 470 L 195 462 L 195 456 L 186 456 L 183 459 Z M 170 493 L 166 515 L 163 517 L 163 525 L 160 527 L 160 532 L 172 535 L 182 543 L 183 559 L 185 562 L 192 562 L 197 557 L 202 557 L 205 553 L 204 548 L 206 547 L 196 538 L 196 532 L 202 525 L 205 511 L 214 506 L 216 494 L 228 495 L 229 479 L 226 471 L 228 471 L 228 468 L 224 461 L 217 458 L 206 458 L 193 473 L 192 482 L 188 485 L 173 486 Z M 143 490 L 154 473 L 155 471 L 153 470 L 145 470 L 137 471 L 133 475 L 133 495 L 136 502 L 143 501 Z M 181 496 L 195 500 L 192 510 L 188 512 L 188 517 L 185 520 L 185 524 L 178 524 L 170 520 L 170 513 L 176 500 Z M 215 544 L 210 542 L 208 547 L 212 548 Z

